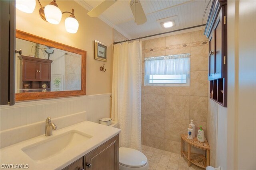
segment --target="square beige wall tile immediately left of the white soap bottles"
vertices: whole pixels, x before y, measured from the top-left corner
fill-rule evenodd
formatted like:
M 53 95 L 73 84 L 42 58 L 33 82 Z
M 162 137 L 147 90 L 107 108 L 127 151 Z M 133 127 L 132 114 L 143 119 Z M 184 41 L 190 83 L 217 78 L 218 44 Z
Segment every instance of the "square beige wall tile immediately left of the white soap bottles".
M 180 142 L 180 134 L 186 134 L 189 121 L 185 119 L 164 119 L 164 139 Z

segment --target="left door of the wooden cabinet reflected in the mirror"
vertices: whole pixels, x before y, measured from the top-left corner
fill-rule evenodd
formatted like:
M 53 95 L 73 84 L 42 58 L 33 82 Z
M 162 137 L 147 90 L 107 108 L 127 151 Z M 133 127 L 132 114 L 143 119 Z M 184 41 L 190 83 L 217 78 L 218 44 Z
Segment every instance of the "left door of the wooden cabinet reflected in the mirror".
M 22 80 L 38 81 L 38 64 L 36 61 L 23 60 L 22 66 Z

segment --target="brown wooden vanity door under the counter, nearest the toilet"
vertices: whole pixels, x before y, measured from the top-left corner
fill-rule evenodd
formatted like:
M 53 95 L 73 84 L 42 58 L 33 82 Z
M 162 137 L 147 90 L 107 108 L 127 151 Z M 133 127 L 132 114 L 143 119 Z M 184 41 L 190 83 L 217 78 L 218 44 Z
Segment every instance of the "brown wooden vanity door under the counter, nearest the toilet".
M 85 170 L 118 170 L 118 135 L 86 154 Z

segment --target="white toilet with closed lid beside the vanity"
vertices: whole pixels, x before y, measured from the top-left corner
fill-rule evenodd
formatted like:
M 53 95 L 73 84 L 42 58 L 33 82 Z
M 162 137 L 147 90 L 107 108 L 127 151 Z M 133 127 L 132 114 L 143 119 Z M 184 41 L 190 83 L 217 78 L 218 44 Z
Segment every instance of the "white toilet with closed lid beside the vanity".
M 111 127 L 117 127 L 117 122 L 112 121 Z M 139 150 L 132 148 L 119 148 L 119 170 L 146 170 L 148 159 Z

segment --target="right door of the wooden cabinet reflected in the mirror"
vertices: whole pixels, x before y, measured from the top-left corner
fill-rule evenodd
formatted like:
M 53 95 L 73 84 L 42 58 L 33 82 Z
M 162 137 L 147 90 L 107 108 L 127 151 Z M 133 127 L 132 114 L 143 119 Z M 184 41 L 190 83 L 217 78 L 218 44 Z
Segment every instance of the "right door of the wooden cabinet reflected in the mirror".
M 38 62 L 38 81 L 51 81 L 51 64 Z

